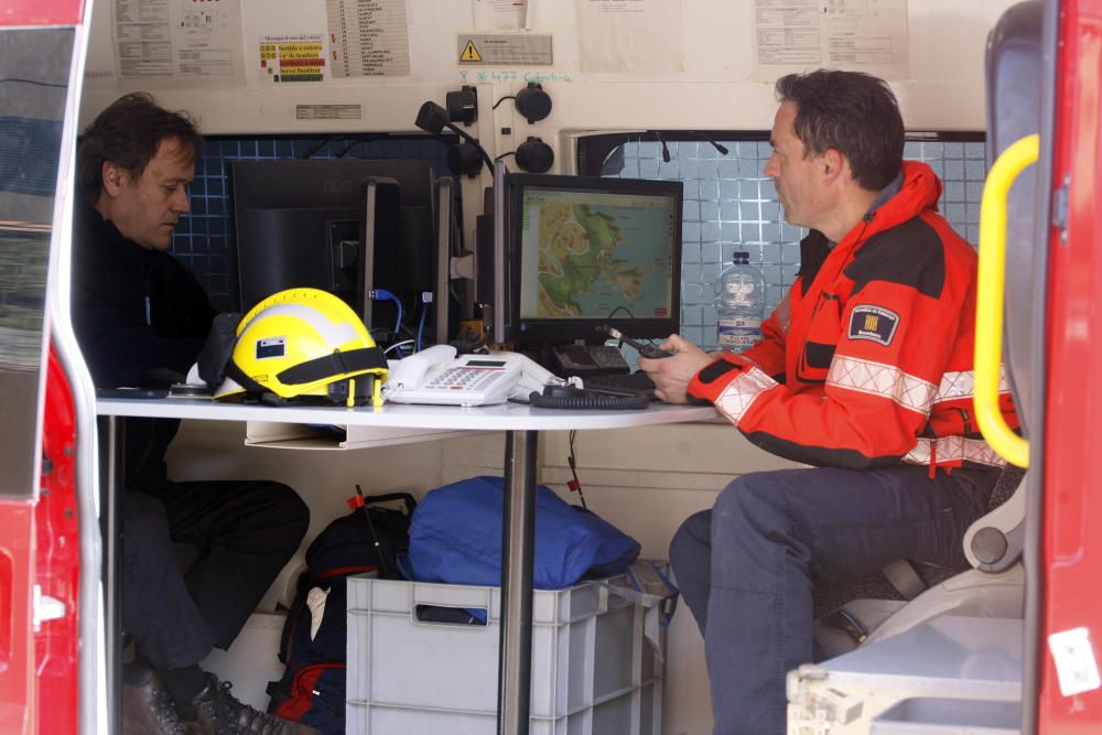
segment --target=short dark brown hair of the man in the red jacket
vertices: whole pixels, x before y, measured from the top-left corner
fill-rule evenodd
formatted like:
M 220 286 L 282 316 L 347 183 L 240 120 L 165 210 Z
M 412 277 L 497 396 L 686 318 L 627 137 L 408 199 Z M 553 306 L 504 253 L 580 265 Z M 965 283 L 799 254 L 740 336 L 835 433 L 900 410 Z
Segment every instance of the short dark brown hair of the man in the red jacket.
M 899 106 L 883 80 L 860 72 L 819 69 L 777 79 L 780 101 L 796 102 L 796 137 L 804 154 L 842 152 L 866 190 L 892 183 L 903 165 Z

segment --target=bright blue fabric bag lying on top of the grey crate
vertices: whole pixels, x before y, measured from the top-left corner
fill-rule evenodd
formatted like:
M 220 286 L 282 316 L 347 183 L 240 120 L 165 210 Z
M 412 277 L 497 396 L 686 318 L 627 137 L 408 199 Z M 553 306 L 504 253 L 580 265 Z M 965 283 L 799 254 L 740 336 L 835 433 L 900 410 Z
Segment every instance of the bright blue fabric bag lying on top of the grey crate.
M 428 493 L 410 525 L 408 575 L 421 582 L 501 583 L 504 480 L 473 477 Z M 612 576 L 639 556 L 639 542 L 551 488 L 536 488 L 537 590 Z

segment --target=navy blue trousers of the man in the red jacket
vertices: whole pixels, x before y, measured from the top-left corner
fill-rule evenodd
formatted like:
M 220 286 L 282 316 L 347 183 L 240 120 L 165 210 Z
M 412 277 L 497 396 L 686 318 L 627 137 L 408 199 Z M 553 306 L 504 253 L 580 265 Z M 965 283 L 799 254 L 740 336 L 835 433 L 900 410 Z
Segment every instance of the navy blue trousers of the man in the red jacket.
M 785 732 L 785 674 L 812 660 L 812 575 L 900 559 L 965 569 L 987 489 L 918 466 L 782 469 L 743 475 L 691 516 L 670 561 L 704 636 L 714 734 Z

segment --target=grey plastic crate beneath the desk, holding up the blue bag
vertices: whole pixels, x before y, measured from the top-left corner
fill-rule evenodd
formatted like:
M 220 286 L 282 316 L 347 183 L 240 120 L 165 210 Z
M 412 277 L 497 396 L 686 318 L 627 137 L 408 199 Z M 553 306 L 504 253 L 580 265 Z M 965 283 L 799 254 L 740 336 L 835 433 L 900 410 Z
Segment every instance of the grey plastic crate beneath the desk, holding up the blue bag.
M 665 635 L 644 638 L 624 577 L 532 599 L 533 735 L 660 735 Z M 485 626 L 425 623 L 420 605 L 477 608 Z M 353 577 L 347 732 L 494 735 L 500 590 Z

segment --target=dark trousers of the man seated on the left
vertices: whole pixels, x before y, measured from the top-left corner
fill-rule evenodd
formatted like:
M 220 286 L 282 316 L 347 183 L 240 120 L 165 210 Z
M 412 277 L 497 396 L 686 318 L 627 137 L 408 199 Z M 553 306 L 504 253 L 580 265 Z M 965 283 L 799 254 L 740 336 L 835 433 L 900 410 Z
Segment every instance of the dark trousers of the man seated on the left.
M 128 491 L 122 510 L 122 627 L 158 669 L 229 648 L 310 526 L 294 490 L 268 480 L 165 483 Z M 186 570 L 177 543 L 197 553 Z

